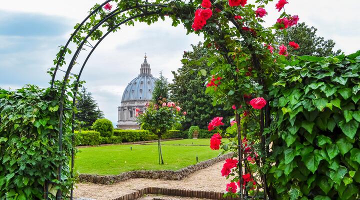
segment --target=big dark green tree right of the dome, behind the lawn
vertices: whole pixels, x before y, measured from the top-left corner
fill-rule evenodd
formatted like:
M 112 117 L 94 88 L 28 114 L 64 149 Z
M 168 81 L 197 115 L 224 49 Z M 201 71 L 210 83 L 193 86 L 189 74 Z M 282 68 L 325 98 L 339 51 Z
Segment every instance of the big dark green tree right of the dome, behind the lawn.
M 211 96 L 205 94 L 206 79 L 199 73 L 200 70 L 203 73 L 209 73 L 211 70 L 211 67 L 206 65 L 204 57 L 206 48 L 201 42 L 191 46 L 192 51 L 184 52 L 182 56 L 182 67 L 172 71 L 173 83 L 169 84 L 171 100 L 180 103 L 182 109 L 187 112 L 182 123 L 184 129 L 191 125 L 205 129 L 213 117 L 224 116 L 227 120 L 233 113 L 224 110 L 221 105 L 213 106 Z M 193 73 L 194 71 L 198 73 Z

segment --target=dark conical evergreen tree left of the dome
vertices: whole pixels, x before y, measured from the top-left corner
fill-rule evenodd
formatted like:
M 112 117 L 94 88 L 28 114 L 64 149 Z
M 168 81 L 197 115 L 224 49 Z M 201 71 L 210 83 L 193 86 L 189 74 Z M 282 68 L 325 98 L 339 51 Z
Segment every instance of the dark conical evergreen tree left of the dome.
M 76 101 L 77 113 L 75 119 L 84 122 L 84 127 L 90 127 L 98 118 L 103 118 L 103 112 L 85 87 L 81 88 Z

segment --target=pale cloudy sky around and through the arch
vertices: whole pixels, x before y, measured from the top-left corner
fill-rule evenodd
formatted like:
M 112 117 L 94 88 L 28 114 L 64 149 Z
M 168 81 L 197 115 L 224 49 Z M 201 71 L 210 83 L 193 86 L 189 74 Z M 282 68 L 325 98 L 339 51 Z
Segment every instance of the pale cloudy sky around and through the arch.
M 253 2 L 254 0 L 248 0 Z M 277 1 L 277 0 L 275 0 Z M 333 39 L 335 48 L 346 54 L 358 50 L 360 43 L 359 0 L 288 0 L 286 11 L 297 14 L 300 22 L 313 25 L 318 35 Z M 0 3 L 0 87 L 16 89 L 24 84 L 47 87 L 46 70 L 59 45 L 64 45 L 75 23 L 102 0 L 16 0 Z M 272 2 L 267 5 L 267 25 L 278 17 Z M 88 60 L 81 79 L 97 100 L 105 117 L 117 121 L 117 106 L 126 84 L 139 73 L 144 53 L 152 74 L 159 71 L 172 79 L 171 70 L 180 67 L 182 52 L 201 40 L 186 35 L 170 20 L 151 26 L 124 26 L 110 34 Z M 68 57 L 67 57 L 68 58 Z M 81 55 L 80 57 L 81 58 Z M 76 67 L 76 66 L 75 66 Z M 78 67 L 78 66 L 77 66 Z M 62 75 L 62 74 L 61 74 Z

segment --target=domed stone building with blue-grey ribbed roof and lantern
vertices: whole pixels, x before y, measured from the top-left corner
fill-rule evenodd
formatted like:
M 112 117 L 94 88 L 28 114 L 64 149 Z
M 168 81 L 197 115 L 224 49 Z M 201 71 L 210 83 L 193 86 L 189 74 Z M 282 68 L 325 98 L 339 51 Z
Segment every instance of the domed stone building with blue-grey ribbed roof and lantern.
M 139 113 L 144 111 L 145 104 L 152 98 L 155 80 L 156 79 L 151 74 L 150 64 L 147 63 L 145 55 L 144 62 L 140 67 L 140 74 L 127 84 L 122 94 L 121 106 L 117 107 L 117 128 L 140 128 L 139 124 L 136 122 L 135 109 L 139 108 Z

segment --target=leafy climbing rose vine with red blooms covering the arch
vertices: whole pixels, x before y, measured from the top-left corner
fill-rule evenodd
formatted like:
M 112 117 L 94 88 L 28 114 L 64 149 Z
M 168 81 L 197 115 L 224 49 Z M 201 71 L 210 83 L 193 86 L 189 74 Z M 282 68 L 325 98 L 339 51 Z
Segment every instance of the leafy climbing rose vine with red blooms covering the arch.
M 87 39 L 102 40 L 109 32 L 118 30 L 120 24 L 134 25 L 134 21 L 151 24 L 159 18 L 164 20 L 165 16 L 172 19 L 174 26 L 183 23 L 188 32 L 202 32 L 204 45 L 208 47 L 205 57 L 208 65 L 213 66 L 206 92 L 214 95 L 213 103 L 232 107 L 235 113 L 235 120 L 226 131 L 219 129 L 220 125 L 224 125 L 220 117 L 212 122 L 218 134 L 211 139 L 211 147 L 221 146 L 224 150 L 236 152 L 235 157 L 238 157 L 227 160 L 223 169 L 224 175 L 230 170 L 226 176 L 233 177 L 227 186 L 227 195 L 238 194 L 243 199 L 250 192 L 251 195 L 262 195 L 266 199 L 271 195 L 271 186 L 267 188 L 265 175 L 270 164 L 270 160 L 267 160 L 268 139 L 265 128 L 270 125 L 269 103 L 272 100 L 268 98 L 267 88 L 279 72 L 276 59 L 284 59 L 289 54 L 287 46 L 274 44 L 273 38 L 298 20 L 297 15 L 288 15 L 283 11 L 272 27 L 263 27 L 263 17 L 268 9 L 265 5 L 269 1 L 272 0 L 255 0 L 254 4 L 247 3 L 247 0 L 156 0 L 149 4 L 147 0 L 107 0 L 91 8 L 93 14 L 89 20 L 76 24 L 78 31 L 74 32 L 71 40 L 79 49 L 84 44 L 93 47 Z M 279 0 L 275 8 L 284 10 L 287 3 L 287 0 Z M 105 31 L 108 32 L 103 34 Z M 295 41 L 289 45 L 298 48 Z M 278 46 L 278 51 L 274 50 L 275 46 Z M 71 51 L 61 46 L 54 60 L 57 66 L 49 71 L 53 76 L 52 81 L 57 83 L 54 76 L 58 66 L 64 64 L 62 57 L 65 53 Z M 78 53 L 75 52 L 68 70 L 75 64 Z M 74 94 L 78 78 L 76 81 L 73 84 Z M 63 83 L 67 82 L 66 77 Z M 61 95 L 64 95 L 64 88 Z M 239 135 L 237 140 L 230 138 L 229 143 L 220 141 L 222 137 L 229 137 L 233 133 Z M 238 165 L 232 167 L 235 161 Z M 240 189 L 235 190 L 235 186 Z

